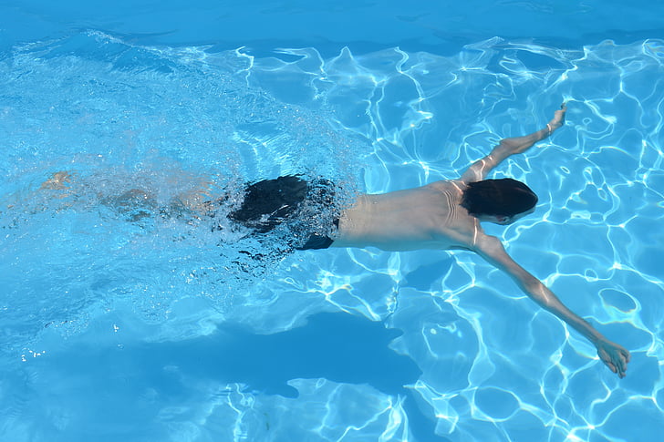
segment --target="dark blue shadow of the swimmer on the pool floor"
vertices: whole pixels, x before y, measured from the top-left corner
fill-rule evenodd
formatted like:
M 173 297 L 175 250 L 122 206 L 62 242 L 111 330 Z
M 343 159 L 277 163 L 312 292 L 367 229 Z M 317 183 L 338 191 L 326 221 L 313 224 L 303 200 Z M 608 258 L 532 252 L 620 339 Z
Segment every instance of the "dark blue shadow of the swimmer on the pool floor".
M 119 428 L 136 420 L 140 406 L 128 404 L 127 398 L 137 385 L 157 392 L 158 400 L 178 404 L 191 396 L 187 379 L 237 383 L 247 385 L 248 391 L 297 397 L 296 388 L 288 381 L 325 378 L 341 384 L 370 385 L 389 396 L 405 396 L 404 410 L 415 439 L 447 440 L 435 435 L 434 421 L 424 416 L 411 390 L 403 387 L 414 384 L 421 371 L 410 357 L 389 348 L 400 334 L 364 317 L 314 314 L 304 326 L 276 334 L 254 334 L 242 326 L 226 325 L 206 336 L 125 344 L 122 349 L 87 340 L 72 342 L 58 355 L 51 355 L 49 366 L 43 368 L 47 368 L 47 377 L 57 378 L 58 386 L 51 394 L 67 396 L 67 401 L 80 395 L 79 400 L 89 404 L 78 407 L 84 414 L 96 416 L 105 427 L 110 423 Z M 106 379 L 100 379 L 104 372 Z M 91 394 L 106 399 L 95 400 Z

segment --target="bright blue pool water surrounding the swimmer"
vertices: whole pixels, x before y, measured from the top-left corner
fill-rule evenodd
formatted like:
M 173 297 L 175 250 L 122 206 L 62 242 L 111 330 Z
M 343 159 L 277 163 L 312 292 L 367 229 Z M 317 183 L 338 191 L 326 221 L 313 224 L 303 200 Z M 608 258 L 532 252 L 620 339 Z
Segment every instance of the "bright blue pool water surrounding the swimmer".
M 659 440 L 664 7 L 309 3 L 0 3 L 0 439 Z M 563 100 L 494 174 L 537 210 L 486 230 L 631 351 L 622 380 L 471 253 L 156 215 L 455 178 Z

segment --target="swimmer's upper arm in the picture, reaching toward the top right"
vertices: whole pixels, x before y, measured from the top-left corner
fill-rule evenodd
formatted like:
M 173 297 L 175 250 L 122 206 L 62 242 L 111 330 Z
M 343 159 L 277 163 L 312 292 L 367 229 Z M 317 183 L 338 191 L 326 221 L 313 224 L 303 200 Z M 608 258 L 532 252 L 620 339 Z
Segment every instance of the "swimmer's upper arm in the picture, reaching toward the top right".
M 551 121 L 546 124 L 545 128 L 537 130 L 530 135 L 525 135 L 524 137 L 501 139 L 501 143 L 493 148 L 489 155 L 483 159 L 475 161 L 468 170 L 463 172 L 461 180 L 464 182 L 484 180 L 493 168 L 503 162 L 503 159 L 506 159 L 510 155 L 524 152 L 524 150 L 531 148 L 537 141 L 550 137 L 557 128 L 563 126 L 566 111 L 567 107 L 565 106 L 565 103 L 563 103 L 560 106 L 560 110 L 555 111 L 554 118 L 551 118 Z

